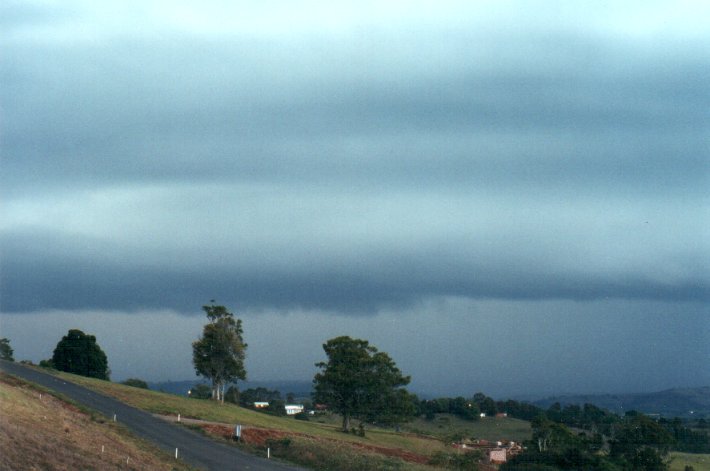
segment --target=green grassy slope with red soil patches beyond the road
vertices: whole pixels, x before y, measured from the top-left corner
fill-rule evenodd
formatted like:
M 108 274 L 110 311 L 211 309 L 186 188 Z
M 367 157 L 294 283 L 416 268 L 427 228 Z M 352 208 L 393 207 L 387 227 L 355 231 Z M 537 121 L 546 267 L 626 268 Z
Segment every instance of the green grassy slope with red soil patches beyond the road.
M 529 435 L 529 425 L 515 419 L 464 423 L 454 417 L 440 416 L 431 423 L 415 421 L 402 432 L 368 428 L 366 435 L 360 437 L 342 433 L 338 418 L 333 416 L 299 421 L 229 403 L 221 405 L 67 373 L 55 374 L 154 414 L 173 420 L 178 414 L 181 418 L 197 419 L 201 422 L 189 426 L 230 443 L 234 425 L 240 424 L 245 439 L 240 446 L 256 454 L 265 454 L 269 447 L 272 456 L 315 469 L 431 470 L 436 468 L 429 464 L 432 458 L 463 453 L 451 446 L 449 438 L 454 433 L 465 431 L 469 437 L 516 441 Z

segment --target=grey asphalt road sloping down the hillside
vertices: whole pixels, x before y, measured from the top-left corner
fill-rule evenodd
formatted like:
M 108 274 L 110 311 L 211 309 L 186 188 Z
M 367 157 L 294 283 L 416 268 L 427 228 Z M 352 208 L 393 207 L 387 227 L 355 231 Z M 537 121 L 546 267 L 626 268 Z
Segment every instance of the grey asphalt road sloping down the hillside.
M 61 378 L 27 368 L 17 363 L 0 360 L 0 371 L 37 383 L 47 389 L 61 393 L 106 417 L 122 423 L 136 435 L 155 443 L 159 448 L 186 463 L 210 470 L 298 470 L 278 462 L 266 460 L 243 451 L 210 440 L 182 426 L 173 425 L 153 417 L 116 399 L 104 396 Z

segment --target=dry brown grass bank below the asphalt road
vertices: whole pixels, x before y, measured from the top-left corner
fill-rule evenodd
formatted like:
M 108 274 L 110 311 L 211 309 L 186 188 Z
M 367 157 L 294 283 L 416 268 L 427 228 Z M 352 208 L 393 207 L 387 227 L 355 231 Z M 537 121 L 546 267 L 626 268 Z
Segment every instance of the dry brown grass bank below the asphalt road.
M 132 437 L 122 426 L 93 420 L 1 373 L 0 450 L 3 470 L 191 469 Z

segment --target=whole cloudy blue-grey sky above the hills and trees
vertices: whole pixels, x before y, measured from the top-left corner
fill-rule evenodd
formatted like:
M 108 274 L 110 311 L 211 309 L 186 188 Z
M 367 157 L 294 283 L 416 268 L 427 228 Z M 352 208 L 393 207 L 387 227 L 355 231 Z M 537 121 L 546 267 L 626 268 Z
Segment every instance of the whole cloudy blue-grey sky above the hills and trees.
M 710 385 L 701 1 L 0 5 L 0 335 L 252 380 L 338 335 L 419 393 Z

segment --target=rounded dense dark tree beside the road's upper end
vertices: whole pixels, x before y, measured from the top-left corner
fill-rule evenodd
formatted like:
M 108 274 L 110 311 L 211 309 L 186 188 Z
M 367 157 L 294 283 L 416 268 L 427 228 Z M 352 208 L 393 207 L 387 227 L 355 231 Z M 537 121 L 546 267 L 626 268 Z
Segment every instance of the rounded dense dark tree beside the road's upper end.
M 96 343 L 96 337 L 71 329 L 57 343 L 52 355 L 54 368 L 90 378 L 109 379 L 106 354 Z

